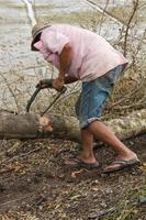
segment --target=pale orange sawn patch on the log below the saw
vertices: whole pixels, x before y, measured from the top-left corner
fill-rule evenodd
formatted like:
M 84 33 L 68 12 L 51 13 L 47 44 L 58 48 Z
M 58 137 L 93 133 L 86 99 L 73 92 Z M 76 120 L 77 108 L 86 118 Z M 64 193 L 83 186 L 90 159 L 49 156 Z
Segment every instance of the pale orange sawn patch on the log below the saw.
M 53 122 L 46 118 L 40 118 L 40 132 L 52 132 L 53 131 Z

